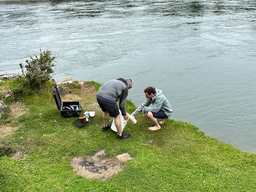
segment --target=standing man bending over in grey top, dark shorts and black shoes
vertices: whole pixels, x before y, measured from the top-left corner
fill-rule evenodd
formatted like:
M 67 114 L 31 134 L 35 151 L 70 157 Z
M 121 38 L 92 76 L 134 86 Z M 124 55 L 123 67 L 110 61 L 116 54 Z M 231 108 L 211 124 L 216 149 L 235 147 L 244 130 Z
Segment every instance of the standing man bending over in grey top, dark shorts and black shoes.
M 103 131 L 108 130 L 111 124 L 108 123 L 108 118 L 114 117 L 114 124 L 116 125 L 117 139 L 127 139 L 130 134 L 122 133 L 121 119 L 119 109 L 117 107 L 117 101 L 119 101 L 119 108 L 124 116 L 125 120 L 129 119 L 129 115 L 126 113 L 126 98 L 128 90 L 132 88 L 132 80 L 117 78 L 117 80 L 109 80 L 104 83 L 96 94 L 98 104 L 103 111 Z

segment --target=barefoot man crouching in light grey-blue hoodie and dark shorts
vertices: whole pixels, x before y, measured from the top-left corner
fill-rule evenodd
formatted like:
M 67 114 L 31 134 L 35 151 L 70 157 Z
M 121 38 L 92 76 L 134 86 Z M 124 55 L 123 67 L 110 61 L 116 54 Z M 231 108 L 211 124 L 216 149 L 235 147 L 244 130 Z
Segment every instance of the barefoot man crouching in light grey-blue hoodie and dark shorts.
M 173 113 L 170 102 L 163 94 L 163 91 L 154 88 L 153 86 L 148 86 L 144 90 L 145 96 L 147 98 L 134 112 L 132 115 L 135 118 L 135 115 L 140 112 L 143 113 L 143 117 L 150 119 L 155 126 L 148 127 L 150 131 L 160 130 L 161 126 L 166 119 L 168 119 Z M 157 119 L 161 119 L 158 122 Z

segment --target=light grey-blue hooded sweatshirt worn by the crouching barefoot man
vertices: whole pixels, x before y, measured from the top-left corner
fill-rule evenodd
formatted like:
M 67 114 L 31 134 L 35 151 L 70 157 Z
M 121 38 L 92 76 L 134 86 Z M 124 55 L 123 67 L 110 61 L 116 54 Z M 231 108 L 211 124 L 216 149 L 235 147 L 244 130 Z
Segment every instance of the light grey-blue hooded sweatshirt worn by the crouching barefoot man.
M 173 113 L 173 108 L 171 107 L 170 102 L 164 96 L 163 91 L 158 90 L 157 88 L 155 88 L 155 91 L 155 96 L 153 96 L 151 99 L 147 98 L 147 100 L 144 101 L 134 112 L 132 112 L 132 114 L 137 115 L 142 112 L 142 110 L 145 112 L 158 112 L 161 110 L 167 115 L 167 117 L 170 117 Z

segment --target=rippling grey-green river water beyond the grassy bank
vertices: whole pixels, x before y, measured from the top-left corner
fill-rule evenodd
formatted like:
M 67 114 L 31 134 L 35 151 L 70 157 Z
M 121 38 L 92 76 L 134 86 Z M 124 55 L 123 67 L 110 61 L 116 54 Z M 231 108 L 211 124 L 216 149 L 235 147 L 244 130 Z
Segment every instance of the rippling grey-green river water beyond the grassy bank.
M 256 1 L 0 1 L 0 40 L 0 74 L 49 49 L 55 80 L 132 78 L 136 106 L 156 86 L 172 119 L 256 153 Z

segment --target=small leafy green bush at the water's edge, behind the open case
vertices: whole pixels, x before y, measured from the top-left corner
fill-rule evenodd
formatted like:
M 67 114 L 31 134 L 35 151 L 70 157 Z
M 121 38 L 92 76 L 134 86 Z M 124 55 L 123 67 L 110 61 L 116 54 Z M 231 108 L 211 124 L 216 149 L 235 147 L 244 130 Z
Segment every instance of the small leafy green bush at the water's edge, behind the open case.
M 54 67 L 55 57 L 51 55 L 51 51 L 42 52 L 40 49 L 40 56 L 35 54 L 34 56 L 34 58 L 30 56 L 30 61 L 25 61 L 27 63 L 25 65 L 26 71 L 20 64 L 23 77 L 20 77 L 19 80 L 22 82 L 23 88 L 39 89 L 43 83 L 52 77 L 51 74 L 54 72 L 52 67 Z

